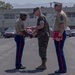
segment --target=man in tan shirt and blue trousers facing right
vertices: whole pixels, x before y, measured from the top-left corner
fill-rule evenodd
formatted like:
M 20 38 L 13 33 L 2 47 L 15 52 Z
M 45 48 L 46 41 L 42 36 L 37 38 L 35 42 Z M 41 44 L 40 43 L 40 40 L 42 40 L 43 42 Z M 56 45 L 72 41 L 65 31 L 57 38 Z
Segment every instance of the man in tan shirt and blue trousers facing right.
M 15 35 L 16 62 L 15 62 L 15 66 L 16 66 L 16 69 L 25 69 L 25 67 L 22 66 L 22 62 L 21 62 L 24 44 L 25 44 L 25 36 L 32 37 L 32 35 L 28 34 L 24 28 L 23 21 L 26 20 L 26 17 L 27 17 L 27 15 L 25 12 L 20 12 L 20 18 L 17 20 L 16 25 L 15 25 L 15 29 L 16 29 L 16 35 Z

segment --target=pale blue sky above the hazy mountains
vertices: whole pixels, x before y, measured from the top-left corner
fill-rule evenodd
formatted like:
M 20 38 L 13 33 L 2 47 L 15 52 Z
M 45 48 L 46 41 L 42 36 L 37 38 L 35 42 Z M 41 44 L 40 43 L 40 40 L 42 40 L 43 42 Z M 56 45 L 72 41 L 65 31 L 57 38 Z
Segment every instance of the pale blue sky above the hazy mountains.
M 31 3 L 31 4 L 41 4 L 41 3 L 50 3 L 50 2 L 75 2 L 75 0 L 0 0 L 0 1 L 4 1 L 6 3 L 18 3 L 18 4 L 27 4 L 27 3 Z

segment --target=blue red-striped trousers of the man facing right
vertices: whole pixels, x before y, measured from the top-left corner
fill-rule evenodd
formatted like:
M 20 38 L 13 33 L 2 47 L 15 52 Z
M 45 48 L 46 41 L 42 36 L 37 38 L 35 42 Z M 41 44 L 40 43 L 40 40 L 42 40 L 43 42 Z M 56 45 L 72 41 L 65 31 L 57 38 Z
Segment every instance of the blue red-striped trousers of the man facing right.
M 16 64 L 15 65 L 21 65 L 21 59 L 23 54 L 23 48 L 24 48 L 24 36 L 15 35 L 15 42 L 16 42 Z

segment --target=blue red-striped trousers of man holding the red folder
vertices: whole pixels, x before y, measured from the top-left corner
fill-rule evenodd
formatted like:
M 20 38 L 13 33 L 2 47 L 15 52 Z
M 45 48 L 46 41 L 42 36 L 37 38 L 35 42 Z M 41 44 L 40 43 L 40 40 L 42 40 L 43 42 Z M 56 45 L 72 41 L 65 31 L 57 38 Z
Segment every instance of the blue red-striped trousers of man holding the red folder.
M 66 39 L 66 33 L 64 31 L 63 40 L 60 40 L 60 41 L 54 40 L 57 59 L 58 59 L 59 70 L 61 70 L 61 71 L 66 71 L 67 70 L 65 57 L 64 57 L 64 52 L 63 52 L 65 39 Z

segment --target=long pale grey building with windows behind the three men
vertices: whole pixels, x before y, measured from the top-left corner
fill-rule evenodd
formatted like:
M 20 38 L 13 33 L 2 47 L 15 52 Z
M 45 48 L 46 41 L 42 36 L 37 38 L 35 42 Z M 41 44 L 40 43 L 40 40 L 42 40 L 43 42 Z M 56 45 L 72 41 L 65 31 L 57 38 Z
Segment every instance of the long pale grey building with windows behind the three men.
M 55 11 L 51 7 L 41 7 L 43 14 L 47 17 L 48 23 L 51 27 L 54 25 L 55 21 Z M 64 7 L 63 10 L 68 16 L 68 26 L 70 28 L 75 28 L 75 6 L 74 7 Z M 28 12 L 27 20 L 25 26 L 35 26 L 36 19 L 32 12 L 33 8 L 21 8 L 21 9 L 7 9 L 0 10 L 0 29 L 5 29 L 8 27 L 14 27 L 16 19 L 19 17 L 19 12 L 25 11 Z

